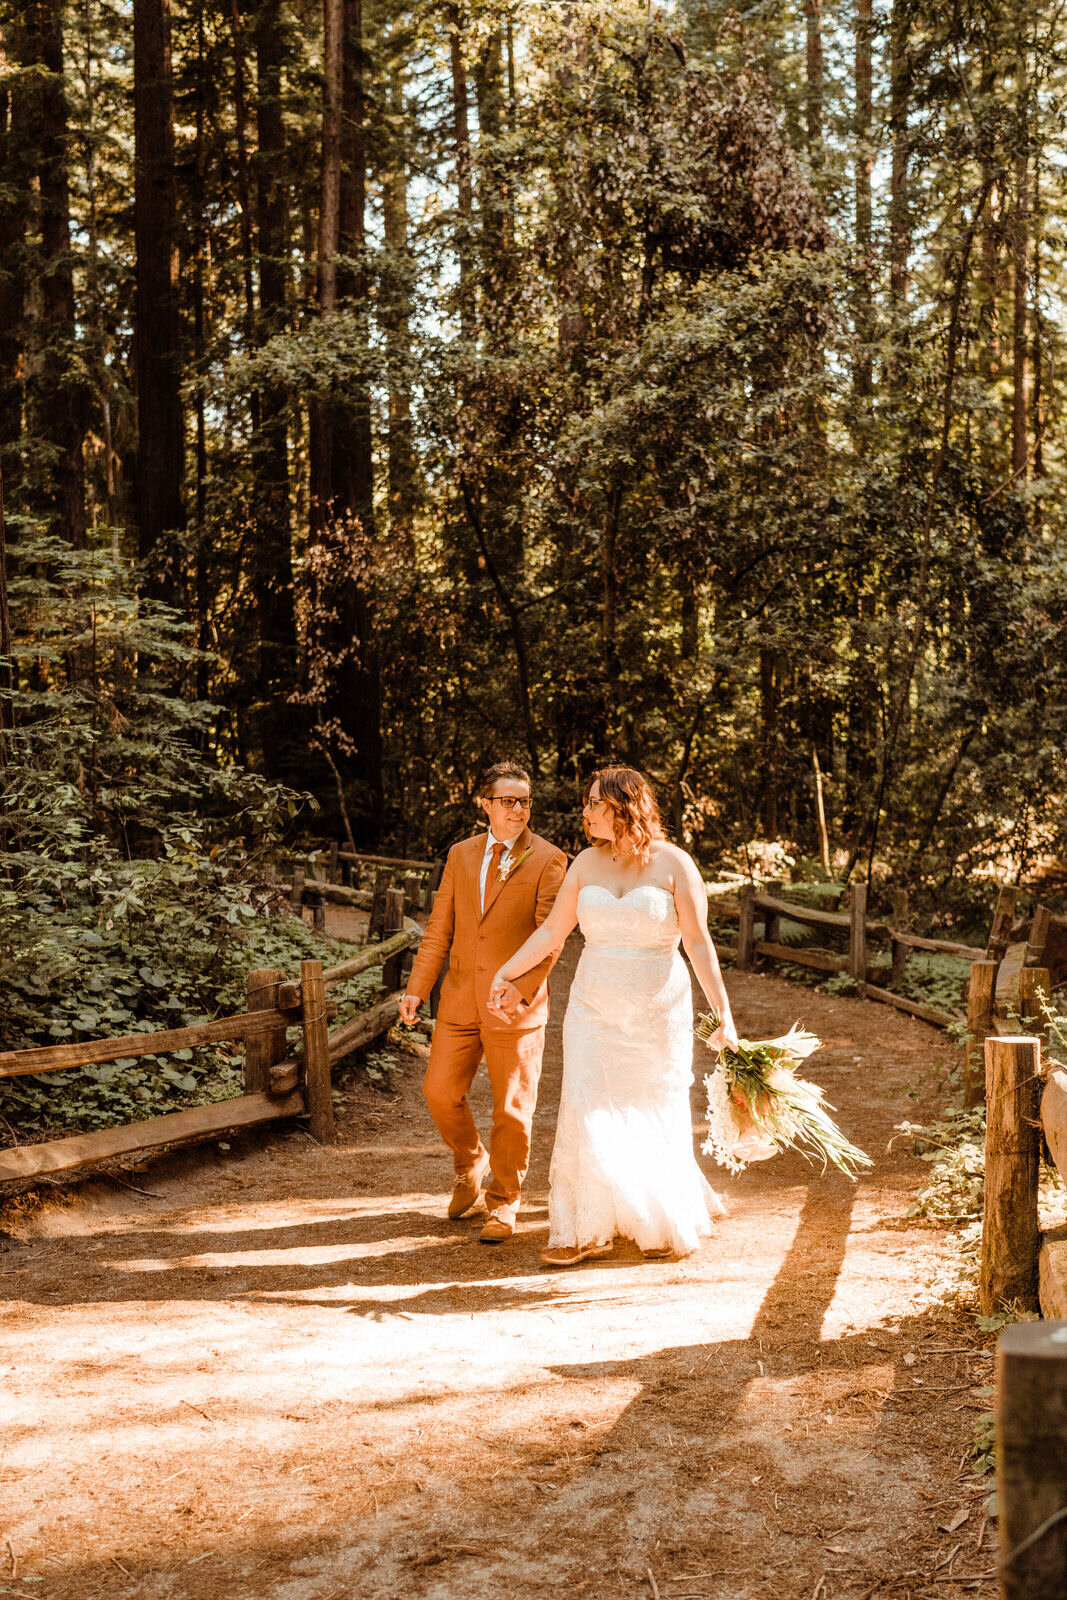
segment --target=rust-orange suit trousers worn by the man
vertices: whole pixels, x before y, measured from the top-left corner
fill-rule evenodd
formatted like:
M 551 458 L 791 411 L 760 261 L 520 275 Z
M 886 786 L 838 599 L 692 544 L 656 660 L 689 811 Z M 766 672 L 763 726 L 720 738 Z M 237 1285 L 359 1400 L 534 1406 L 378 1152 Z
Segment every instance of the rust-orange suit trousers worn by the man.
M 478 1138 L 467 1091 L 482 1056 L 490 1069 L 493 1090 L 493 1133 L 486 1189 L 490 1210 L 517 1205 L 530 1166 L 530 1128 L 537 1104 L 544 1024 L 530 1029 L 466 1027 L 443 1022 L 434 1029 L 430 1059 L 422 1093 L 437 1130 L 453 1152 L 456 1176 L 469 1176 L 482 1162 L 485 1146 Z

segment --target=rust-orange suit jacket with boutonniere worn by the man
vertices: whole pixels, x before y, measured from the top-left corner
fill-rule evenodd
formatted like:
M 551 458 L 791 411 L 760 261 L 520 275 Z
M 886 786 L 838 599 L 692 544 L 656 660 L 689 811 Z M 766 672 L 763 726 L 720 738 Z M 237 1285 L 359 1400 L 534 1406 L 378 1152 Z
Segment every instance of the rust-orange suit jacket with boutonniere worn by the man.
M 490 1013 L 490 982 L 552 910 L 566 877 L 566 856 L 547 838 L 523 829 L 510 851 L 507 880 L 501 883 L 490 869 L 483 912 L 478 894 L 483 854 L 485 834 L 464 838 L 448 851 L 442 886 L 411 966 L 408 994 L 426 1000 L 448 957 L 438 1021 L 488 1029 L 542 1027 L 549 1018 L 545 979 L 558 950 L 515 981 L 526 1006 L 510 1026 Z

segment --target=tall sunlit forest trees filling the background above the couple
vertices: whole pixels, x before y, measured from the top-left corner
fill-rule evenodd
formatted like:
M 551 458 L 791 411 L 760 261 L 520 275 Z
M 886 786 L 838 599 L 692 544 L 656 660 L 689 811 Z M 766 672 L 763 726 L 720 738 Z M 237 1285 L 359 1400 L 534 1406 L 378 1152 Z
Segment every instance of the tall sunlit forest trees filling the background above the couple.
M 440 853 L 501 755 L 561 838 L 616 758 L 705 859 L 1054 859 L 1064 26 L 0 0 L 6 902 L 293 790 Z

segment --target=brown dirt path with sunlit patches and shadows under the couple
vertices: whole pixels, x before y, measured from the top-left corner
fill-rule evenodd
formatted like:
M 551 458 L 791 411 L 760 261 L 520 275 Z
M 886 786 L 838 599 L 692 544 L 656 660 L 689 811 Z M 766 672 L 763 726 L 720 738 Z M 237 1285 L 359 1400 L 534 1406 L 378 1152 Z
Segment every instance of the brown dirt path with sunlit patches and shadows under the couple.
M 822 1037 L 813 1075 L 873 1176 L 713 1178 L 701 1254 L 547 1274 L 573 960 L 510 1245 L 443 1218 L 414 1061 L 395 1098 L 352 1090 L 336 1149 L 291 1131 L 8 1218 L 0 1594 L 952 1600 L 989 1571 L 965 1454 L 992 1363 L 934 1310 L 945 1235 L 905 1219 L 925 1168 L 885 1155 L 945 1040 L 733 974 L 742 1032 L 801 1013 Z

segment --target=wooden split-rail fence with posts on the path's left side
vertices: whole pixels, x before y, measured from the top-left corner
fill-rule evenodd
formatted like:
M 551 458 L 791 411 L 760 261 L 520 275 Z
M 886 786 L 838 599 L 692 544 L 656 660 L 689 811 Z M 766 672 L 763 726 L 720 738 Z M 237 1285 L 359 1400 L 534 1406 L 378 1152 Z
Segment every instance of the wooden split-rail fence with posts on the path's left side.
M 402 918 L 403 920 L 403 918 Z M 248 1003 L 238 1016 L 214 1018 L 189 1027 L 157 1034 L 128 1034 L 120 1038 L 90 1038 L 75 1045 L 45 1045 L 32 1050 L 0 1051 L 0 1078 L 62 1072 L 139 1056 L 162 1056 L 224 1040 L 245 1043 L 245 1093 L 194 1106 L 189 1110 L 150 1117 L 146 1122 L 96 1133 L 78 1133 L 46 1144 L 22 1144 L 0 1150 L 0 1182 L 66 1173 L 120 1155 L 158 1150 L 163 1146 L 213 1138 L 238 1128 L 307 1117 L 320 1144 L 333 1144 L 331 1066 L 370 1045 L 397 1016 L 398 994 L 330 1029 L 336 1006 L 328 990 L 371 966 L 382 966 L 386 987 L 400 987 L 395 963 L 418 942 L 421 930 L 406 925 L 379 944 L 323 971 L 322 962 L 301 962 L 299 981 L 286 981 L 275 968 L 248 974 Z M 290 1032 L 299 1042 L 290 1045 Z

